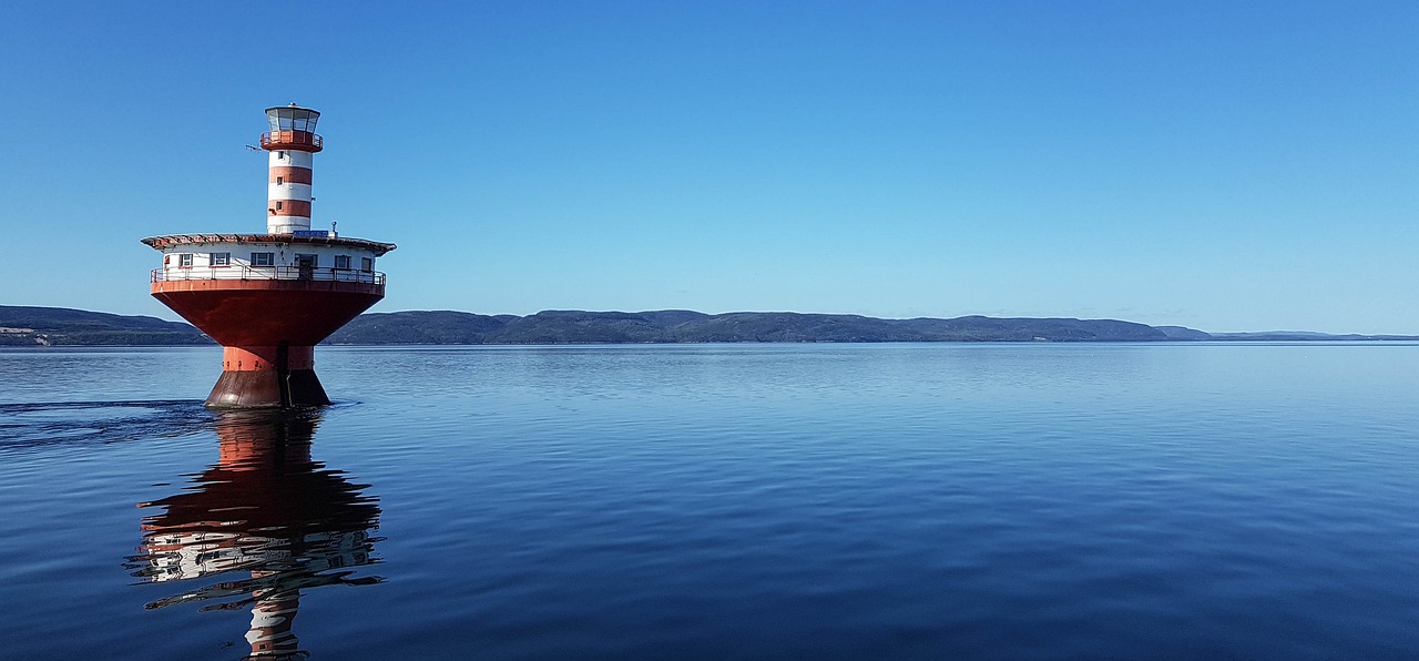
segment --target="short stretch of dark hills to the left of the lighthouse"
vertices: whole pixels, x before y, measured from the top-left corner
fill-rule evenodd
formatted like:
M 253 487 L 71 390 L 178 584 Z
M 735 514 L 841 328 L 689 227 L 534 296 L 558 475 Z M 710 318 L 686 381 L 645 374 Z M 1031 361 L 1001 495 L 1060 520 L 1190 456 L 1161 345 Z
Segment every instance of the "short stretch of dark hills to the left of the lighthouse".
M 125 316 L 70 308 L 0 305 L 0 346 L 210 345 L 192 325 L 156 316 Z

